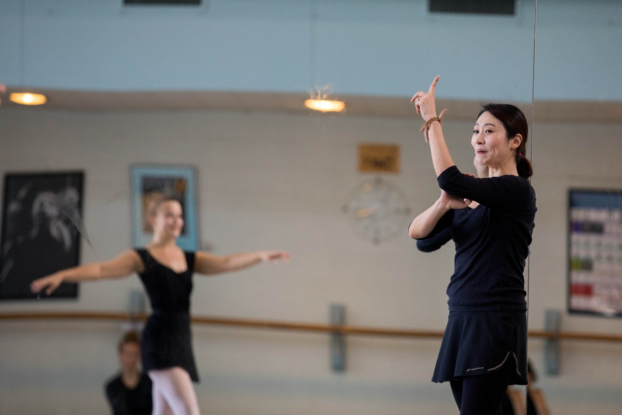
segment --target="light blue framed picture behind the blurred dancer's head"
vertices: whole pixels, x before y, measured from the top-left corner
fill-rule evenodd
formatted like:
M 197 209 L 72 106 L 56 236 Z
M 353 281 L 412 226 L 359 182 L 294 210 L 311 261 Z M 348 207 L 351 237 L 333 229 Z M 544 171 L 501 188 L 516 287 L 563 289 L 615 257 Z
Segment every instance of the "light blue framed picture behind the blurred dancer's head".
M 183 230 L 177 245 L 185 251 L 198 246 L 196 172 L 192 166 L 134 165 L 130 167 L 132 192 L 132 243 L 147 245 L 153 236 L 147 211 L 154 198 L 174 197 L 182 205 Z

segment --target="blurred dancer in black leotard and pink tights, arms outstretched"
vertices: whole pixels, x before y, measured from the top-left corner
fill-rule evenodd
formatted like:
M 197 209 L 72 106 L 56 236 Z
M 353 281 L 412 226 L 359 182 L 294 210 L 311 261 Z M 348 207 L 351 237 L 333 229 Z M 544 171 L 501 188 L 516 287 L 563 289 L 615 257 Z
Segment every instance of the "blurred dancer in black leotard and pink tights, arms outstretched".
M 184 252 L 175 245 L 183 228 L 182 205 L 159 197 L 149 211 L 154 236 L 144 249 L 129 249 L 104 263 L 58 271 L 32 282 L 33 292 L 51 294 L 62 282 L 94 281 L 137 273 L 144 284 L 152 315 L 142 335 L 142 366 L 153 381 L 153 413 L 199 413 L 192 381 L 198 381 L 190 338 L 192 274 L 219 274 L 262 261 L 288 259 L 283 251 L 257 251 L 229 256 Z

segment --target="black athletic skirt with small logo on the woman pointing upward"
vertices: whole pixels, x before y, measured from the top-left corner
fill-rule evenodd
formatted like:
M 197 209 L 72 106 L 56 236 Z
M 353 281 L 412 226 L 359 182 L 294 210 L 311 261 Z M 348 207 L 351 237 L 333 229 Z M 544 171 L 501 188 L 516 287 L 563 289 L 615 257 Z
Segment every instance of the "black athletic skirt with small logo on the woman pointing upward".
M 433 382 L 494 373 L 507 365 L 514 368 L 510 385 L 527 385 L 525 310 L 449 312 Z

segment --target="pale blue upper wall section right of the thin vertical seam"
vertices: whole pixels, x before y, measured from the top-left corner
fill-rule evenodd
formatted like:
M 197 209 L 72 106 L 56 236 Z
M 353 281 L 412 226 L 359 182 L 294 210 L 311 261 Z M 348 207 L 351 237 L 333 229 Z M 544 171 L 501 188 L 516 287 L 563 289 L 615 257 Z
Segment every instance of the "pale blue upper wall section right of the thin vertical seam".
M 536 98 L 622 100 L 622 1 L 539 0 Z

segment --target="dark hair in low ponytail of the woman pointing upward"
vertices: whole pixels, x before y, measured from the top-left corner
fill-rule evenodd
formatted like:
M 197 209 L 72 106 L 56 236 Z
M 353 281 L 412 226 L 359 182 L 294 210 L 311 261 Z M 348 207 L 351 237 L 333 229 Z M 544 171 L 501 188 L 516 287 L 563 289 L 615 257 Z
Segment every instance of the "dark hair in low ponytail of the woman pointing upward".
M 527 152 L 527 133 L 529 132 L 525 114 L 520 108 L 510 104 L 488 103 L 481 107 L 482 110 L 478 117 L 485 112 L 489 112 L 494 118 L 501 121 L 501 124 L 506 129 L 508 141 L 513 139 L 516 134 L 521 134 L 521 145 L 516 149 L 516 170 L 518 170 L 519 176 L 529 179 L 534 174 L 534 169 L 531 167 L 529 159 L 525 156 Z

